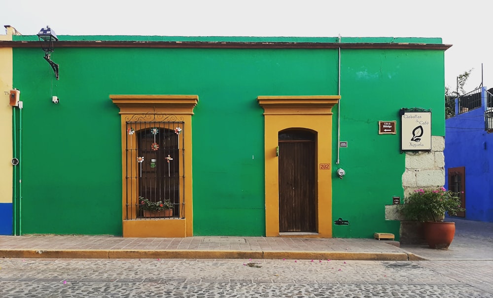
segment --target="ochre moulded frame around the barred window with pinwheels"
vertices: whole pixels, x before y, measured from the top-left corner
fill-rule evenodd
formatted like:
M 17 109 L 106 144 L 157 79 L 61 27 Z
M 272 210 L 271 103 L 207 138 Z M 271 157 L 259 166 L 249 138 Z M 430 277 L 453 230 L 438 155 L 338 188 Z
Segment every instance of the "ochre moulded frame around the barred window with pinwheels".
M 124 237 L 187 237 L 193 236 L 193 197 L 192 197 L 192 115 L 193 108 L 197 105 L 197 95 L 110 95 L 109 98 L 120 108 L 121 137 L 122 137 L 122 225 Z M 149 119 L 149 114 L 161 114 L 176 116 L 183 121 L 184 170 L 187 178 L 184 180 L 185 218 L 180 219 L 152 219 L 136 220 L 131 216 L 127 220 L 127 188 L 131 202 L 136 202 L 139 194 L 135 185 L 127 186 L 126 170 L 128 165 L 135 165 L 135 161 L 127 160 L 126 149 L 131 144 L 137 144 L 136 140 L 127 140 L 127 121 L 136 115 L 143 121 Z M 135 116 L 134 116 L 135 118 Z M 152 120 L 152 119 L 151 119 Z M 135 138 L 135 135 L 132 135 Z M 127 143 L 128 142 L 128 143 Z M 135 145 L 134 145 L 135 146 Z M 135 157 L 131 157 L 135 158 Z M 181 167 L 180 167 L 181 168 Z M 130 184 L 136 183 L 131 181 Z

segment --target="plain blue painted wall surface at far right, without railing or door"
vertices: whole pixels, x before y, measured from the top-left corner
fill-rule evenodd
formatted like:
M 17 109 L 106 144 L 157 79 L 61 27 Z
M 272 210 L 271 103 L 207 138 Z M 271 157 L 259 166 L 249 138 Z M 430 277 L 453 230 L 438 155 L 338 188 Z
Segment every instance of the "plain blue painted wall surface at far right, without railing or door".
M 482 106 L 445 121 L 445 182 L 448 169 L 465 167 L 465 219 L 493 222 L 493 133 L 485 130 L 486 87 Z

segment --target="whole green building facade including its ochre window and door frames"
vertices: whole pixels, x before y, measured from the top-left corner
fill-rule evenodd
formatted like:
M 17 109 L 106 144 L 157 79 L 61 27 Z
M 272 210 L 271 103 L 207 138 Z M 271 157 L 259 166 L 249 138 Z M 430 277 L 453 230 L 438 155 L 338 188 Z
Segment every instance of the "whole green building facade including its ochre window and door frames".
M 0 222 L 13 221 L 11 234 L 398 234 L 385 206 L 404 196 L 400 109 L 431 110 L 431 134 L 445 133 L 449 46 L 440 38 L 59 39 L 51 55 L 58 80 L 36 36 L 0 41 L 12 48 L 22 101 L 12 108 L 20 163 L 6 169 L 12 218 Z M 289 119 L 293 127 L 275 129 Z M 379 134 L 379 121 L 396 121 L 396 133 Z M 270 131 L 279 132 L 279 147 L 270 146 Z M 313 145 L 297 147 L 305 143 Z M 293 163 L 281 166 L 288 148 Z M 283 193 L 290 186 L 293 194 Z M 142 192 L 171 199 L 175 215 L 142 218 Z M 339 218 L 349 225 L 335 224 Z

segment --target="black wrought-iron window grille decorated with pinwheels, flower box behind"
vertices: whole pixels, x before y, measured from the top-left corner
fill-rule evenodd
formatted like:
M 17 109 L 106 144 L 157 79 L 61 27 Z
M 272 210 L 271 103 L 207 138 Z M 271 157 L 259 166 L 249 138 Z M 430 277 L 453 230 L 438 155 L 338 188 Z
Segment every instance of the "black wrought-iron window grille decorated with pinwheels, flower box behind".
M 126 121 L 126 219 L 185 218 L 184 122 L 173 115 Z

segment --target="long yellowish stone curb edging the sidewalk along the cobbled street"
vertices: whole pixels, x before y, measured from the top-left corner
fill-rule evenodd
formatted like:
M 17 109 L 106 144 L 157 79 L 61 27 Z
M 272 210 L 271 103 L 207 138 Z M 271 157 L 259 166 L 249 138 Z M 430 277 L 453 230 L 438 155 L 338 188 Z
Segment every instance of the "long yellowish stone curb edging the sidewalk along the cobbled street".
M 306 251 L 241 251 L 241 250 L 0 250 L 0 258 L 46 259 L 331 259 L 359 261 L 426 261 L 404 252 L 306 252 Z

